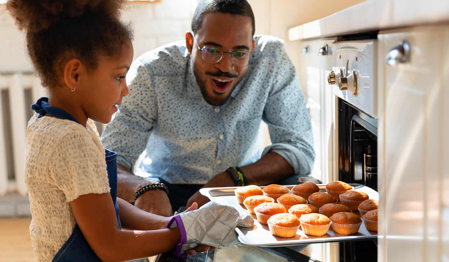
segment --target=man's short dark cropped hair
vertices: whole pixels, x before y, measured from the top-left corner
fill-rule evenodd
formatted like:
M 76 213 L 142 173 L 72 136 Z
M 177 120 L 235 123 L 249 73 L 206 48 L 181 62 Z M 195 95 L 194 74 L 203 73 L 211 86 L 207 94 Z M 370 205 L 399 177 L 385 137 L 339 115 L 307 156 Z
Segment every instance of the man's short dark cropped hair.
M 192 19 L 194 34 L 202 24 L 202 15 L 206 13 L 230 13 L 251 18 L 252 35 L 255 32 L 254 13 L 246 0 L 200 0 Z

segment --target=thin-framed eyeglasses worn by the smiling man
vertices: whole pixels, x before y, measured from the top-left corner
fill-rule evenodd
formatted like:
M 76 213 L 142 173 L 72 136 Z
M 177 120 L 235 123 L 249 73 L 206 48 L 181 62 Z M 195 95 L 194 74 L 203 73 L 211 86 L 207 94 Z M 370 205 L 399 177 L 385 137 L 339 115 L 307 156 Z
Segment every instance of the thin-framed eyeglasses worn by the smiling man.
M 201 51 L 201 57 L 204 62 L 211 64 L 218 63 L 220 62 L 221 58 L 223 58 L 224 53 L 229 53 L 234 66 L 247 67 L 250 62 L 250 57 L 254 57 L 254 53 L 251 53 L 247 50 L 234 50 L 232 52 L 225 52 L 216 46 L 204 46 L 203 48 L 200 48 L 193 33 L 192 36 L 194 37 L 195 43 L 198 46 L 198 50 Z

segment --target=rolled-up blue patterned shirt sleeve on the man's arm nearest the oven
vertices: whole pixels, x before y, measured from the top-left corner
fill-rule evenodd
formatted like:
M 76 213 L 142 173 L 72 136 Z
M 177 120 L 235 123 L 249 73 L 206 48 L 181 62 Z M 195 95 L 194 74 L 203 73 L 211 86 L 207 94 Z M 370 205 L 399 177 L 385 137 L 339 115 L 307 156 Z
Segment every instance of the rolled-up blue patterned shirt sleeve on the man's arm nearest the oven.
M 306 175 L 315 161 L 310 117 L 295 66 L 282 43 L 277 50 L 273 84 L 263 114 L 273 144 L 262 155 L 275 152 L 291 164 L 296 175 Z

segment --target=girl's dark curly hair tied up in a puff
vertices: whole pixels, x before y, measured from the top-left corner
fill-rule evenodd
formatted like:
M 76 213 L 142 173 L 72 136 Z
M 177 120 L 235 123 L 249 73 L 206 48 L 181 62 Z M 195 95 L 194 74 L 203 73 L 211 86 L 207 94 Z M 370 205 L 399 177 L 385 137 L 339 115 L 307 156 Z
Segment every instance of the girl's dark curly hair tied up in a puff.
M 130 23 L 120 21 L 127 0 L 9 0 L 9 10 L 20 30 L 44 87 L 61 85 L 62 62 L 78 58 L 90 70 L 98 55 L 118 55 L 132 41 Z

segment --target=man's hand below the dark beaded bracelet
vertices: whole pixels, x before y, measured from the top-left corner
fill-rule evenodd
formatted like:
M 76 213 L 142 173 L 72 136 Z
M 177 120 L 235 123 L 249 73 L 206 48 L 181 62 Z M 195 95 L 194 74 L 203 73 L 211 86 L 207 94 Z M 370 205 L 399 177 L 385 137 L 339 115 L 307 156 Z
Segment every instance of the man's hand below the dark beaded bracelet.
M 150 190 L 137 198 L 134 205 L 146 212 L 159 216 L 170 217 L 173 215 L 172 205 L 163 190 Z

